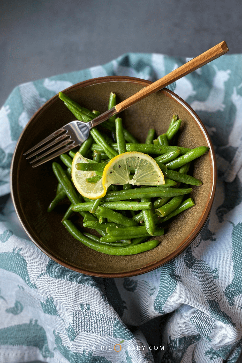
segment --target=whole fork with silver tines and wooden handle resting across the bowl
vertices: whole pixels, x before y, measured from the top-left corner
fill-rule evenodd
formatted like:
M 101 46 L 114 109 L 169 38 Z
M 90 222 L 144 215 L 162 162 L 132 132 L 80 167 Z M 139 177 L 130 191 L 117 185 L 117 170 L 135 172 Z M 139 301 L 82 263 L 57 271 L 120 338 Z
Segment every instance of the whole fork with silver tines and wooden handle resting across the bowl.
M 141 99 L 177 81 L 177 79 L 186 76 L 190 72 L 193 72 L 194 70 L 200 68 L 208 62 L 222 56 L 223 54 L 227 53 L 228 50 L 229 49 L 225 41 L 215 45 L 213 48 L 210 48 L 206 52 L 200 54 L 200 56 L 193 58 L 189 62 L 173 70 L 171 73 L 158 79 L 158 81 L 151 83 L 151 85 L 147 87 L 144 87 L 139 92 L 120 102 L 118 105 L 112 107 L 110 110 L 104 112 L 93 120 L 87 123 L 77 120 L 67 123 L 65 126 L 62 126 L 60 129 L 54 131 L 44 140 L 26 151 L 24 153 L 24 156 L 38 149 L 26 158 L 30 159 L 36 156 L 36 158 L 30 161 L 30 164 L 35 163 L 32 166 L 34 168 L 43 163 L 46 163 L 47 161 L 55 158 L 56 156 L 63 154 L 64 152 L 71 150 L 75 146 L 81 145 L 88 138 L 89 131 L 93 127 L 99 125 L 103 121 L 106 121 L 111 116 L 116 115 L 119 112 L 127 109 Z

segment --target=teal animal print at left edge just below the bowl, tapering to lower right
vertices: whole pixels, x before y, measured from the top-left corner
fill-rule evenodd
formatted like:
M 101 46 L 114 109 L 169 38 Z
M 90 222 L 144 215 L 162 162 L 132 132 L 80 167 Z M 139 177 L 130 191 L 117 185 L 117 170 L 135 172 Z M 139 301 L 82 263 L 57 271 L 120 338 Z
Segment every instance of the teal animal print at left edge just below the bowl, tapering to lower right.
M 14 248 L 13 252 L 0 253 L 0 269 L 16 273 L 31 289 L 36 289 L 36 285 L 30 282 L 27 263 L 25 258 L 20 254 L 21 250 L 21 248 Z

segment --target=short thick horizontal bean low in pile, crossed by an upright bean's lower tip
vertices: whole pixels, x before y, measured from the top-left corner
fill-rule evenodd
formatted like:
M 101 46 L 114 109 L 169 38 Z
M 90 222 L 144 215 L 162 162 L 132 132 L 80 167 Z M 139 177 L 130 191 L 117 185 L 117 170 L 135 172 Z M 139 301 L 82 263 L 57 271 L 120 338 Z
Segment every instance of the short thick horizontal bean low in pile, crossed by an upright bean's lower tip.
M 147 231 L 145 229 L 145 226 L 139 226 L 139 227 L 118 227 L 118 228 L 114 228 L 111 226 L 108 226 L 106 229 L 107 232 L 107 237 L 108 236 L 112 236 L 112 237 L 119 237 L 119 236 L 125 236 L 126 238 L 137 238 L 137 237 L 132 237 L 132 236 L 141 236 L 141 235 L 146 235 Z M 164 229 L 163 228 L 155 228 L 154 231 L 155 236 L 163 236 L 164 234 Z M 150 233 L 148 233 L 150 236 Z

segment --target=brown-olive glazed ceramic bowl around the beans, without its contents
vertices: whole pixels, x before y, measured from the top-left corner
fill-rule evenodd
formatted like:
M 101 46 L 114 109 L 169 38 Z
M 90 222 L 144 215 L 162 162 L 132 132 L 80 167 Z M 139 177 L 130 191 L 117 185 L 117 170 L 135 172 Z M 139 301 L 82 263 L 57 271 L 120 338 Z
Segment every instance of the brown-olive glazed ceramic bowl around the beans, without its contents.
M 150 83 L 132 77 L 101 77 L 78 83 L 63 92 L 87 109 L 104 112 L 111 91 L 116 93 L 118 103 Z M 191 197 L 195 205 L 168 223 L 163 237 L 152 238 L 160 239 L 156 248 L 131 256 L 110 256 L 81 244 L 63 227 L 61 219 L 70 205 L 67 198 L 52 213 L 47 213 L 57 188 L 52 161 L 32 168 L 23 156 L 26 150 L 51 132 L 75 119 L 58 95 L 46 102 L 22 132 L 11 167 L 13 202 L 31 240 L 59 264 L 103 277 L 126 277 L 151 271 L 171 261 L 187 248 L 208 218 L 216 186 L 214 151 L 204 125 L 186 102 L 167 89 L 131 106 L 121 117 L 124 127 L 144 143 L 148 129 L 155 128 L 157 135 L 162 134 L 167 130 L 174 113 L 182 119 L 178 145 L 189 148 L 210 147 L 209 152 L 194 162 L 193 176 L 203 182 L 201 187 L 192 186 Z M 82 225 L 81 216 L 77 214 L 73 221 Z

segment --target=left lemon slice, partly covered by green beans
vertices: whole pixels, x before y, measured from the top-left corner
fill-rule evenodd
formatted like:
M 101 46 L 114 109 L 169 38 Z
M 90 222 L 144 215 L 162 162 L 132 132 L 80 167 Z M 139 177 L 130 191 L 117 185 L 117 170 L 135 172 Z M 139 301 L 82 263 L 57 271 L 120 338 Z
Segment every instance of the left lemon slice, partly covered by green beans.
M 106 188 L 103 188 L 102 179 L 98 180 L 97 183 L 87 183 L 86 179 L 95 176 L 95 171 L 83 171 L 77 170 L 77 163 L 87 163 L 87 160 L 77 152 L 73 158 L 71 164 L 71 178 L 78 192 L 84 197 L 90 199 L 98 199 L 103 197 L 106 194 Z

